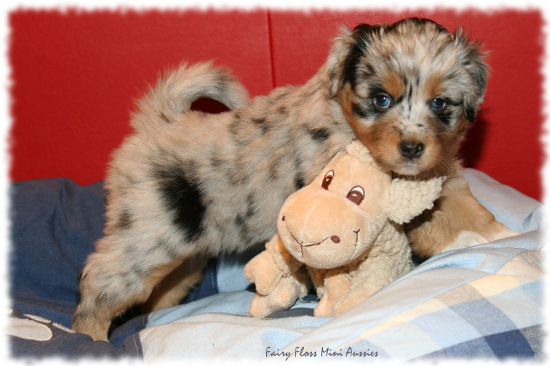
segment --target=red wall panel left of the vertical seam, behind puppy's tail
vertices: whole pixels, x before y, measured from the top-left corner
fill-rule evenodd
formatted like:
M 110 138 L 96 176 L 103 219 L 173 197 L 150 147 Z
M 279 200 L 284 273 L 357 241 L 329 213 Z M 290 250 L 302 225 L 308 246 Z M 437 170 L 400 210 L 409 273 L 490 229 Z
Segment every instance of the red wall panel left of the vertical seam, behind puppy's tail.
M 272 89 L 267 12 L 10 14 L 13 180 L 99 181 L 134 101 L 182 60 L 216 60 Z M 245 62 L 244 62 L 245 61 Z

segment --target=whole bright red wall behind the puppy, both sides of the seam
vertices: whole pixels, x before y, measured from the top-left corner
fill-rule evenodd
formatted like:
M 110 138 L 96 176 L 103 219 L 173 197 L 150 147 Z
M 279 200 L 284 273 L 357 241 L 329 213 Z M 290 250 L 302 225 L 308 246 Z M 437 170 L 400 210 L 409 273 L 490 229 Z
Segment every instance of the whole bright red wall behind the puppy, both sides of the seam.
M 39 12 L 10 14 L 11 179 L 103 179 L 130 132 L 129 111 L 159 73 L 181 60 L 217 60 L 252 95 L 302 84 L 341 24 L 433 19 L 463 25 L 490 51 L 483 111 L 461 155 L 465 164 L 540 199 L 542 14 L 526 12 Z

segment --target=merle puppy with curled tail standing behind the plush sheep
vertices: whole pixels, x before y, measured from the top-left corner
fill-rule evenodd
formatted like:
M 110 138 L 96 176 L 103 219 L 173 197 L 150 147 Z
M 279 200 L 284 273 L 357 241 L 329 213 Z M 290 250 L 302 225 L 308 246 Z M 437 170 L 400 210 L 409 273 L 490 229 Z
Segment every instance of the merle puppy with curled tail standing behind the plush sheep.
M 80 275 L 73 329 L 107 340 L 132 304 L 178 304 L 208 258 L 270 240 L 285 198 L 353 139 L 395 175 L 448 176 L 436 207 L 407 227 L 420 256 L 510 235 L 456 160 L 486 81 L 479 45 L 426 19 L 346 29 L 305 85 L 252 102 L 211 64 L 169 73 L 113 154 L 105 235 Z M 190 111 L 201 97 L 231 111 Z

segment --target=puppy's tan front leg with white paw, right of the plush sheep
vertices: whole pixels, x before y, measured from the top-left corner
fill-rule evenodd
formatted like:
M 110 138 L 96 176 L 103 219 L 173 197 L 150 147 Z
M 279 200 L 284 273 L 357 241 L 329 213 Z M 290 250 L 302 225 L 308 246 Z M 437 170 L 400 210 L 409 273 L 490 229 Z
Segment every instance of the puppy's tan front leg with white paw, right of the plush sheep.
M 489 241 L 518 234 L 496 221 L 493 214 L 477 201 L 467 181 L 461 177 L 448 179 L 434 208 L 424 211 L 404 227 L 412 251 L 420 257 L 446 251 L 459 240 L 463 231 L 474 231 Z M 462 243 L 461 247 L 476 244 L 480 244 L 480 240 L 472 240 L 466 245 Z

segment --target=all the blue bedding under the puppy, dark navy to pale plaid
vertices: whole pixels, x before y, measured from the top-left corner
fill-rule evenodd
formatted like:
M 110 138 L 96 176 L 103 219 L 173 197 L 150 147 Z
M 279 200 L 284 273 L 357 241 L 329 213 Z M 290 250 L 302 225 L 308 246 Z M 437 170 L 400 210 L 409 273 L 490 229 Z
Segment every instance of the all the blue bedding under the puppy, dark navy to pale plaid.
M 69 358 L 543 358 L 542 205 L 466 170 L 474 195 L 523 234 L 436 255 L 339 317 L 313 317 L 316 298 L 248 316 L 243 266 L 256 251 L 212 260 L 183 304 L 126 314 L 110 336 L 69 330 L 76 276 L 102 235 L 102 183 L 12 184 L 8 332 L 16 357 Z

